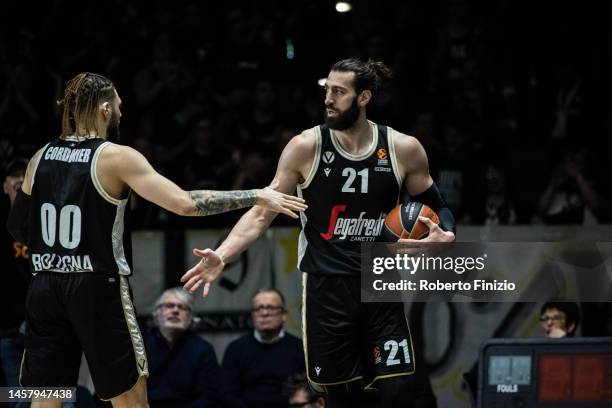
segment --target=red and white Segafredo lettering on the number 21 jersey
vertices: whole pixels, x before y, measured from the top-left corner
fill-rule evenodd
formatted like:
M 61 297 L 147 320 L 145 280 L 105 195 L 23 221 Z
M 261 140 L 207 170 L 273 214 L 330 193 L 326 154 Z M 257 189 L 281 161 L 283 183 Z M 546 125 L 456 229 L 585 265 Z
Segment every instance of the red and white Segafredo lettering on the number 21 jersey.
M 323 239 L 347 240 L 359 242 L 374 242 L 380 236 L 385 217 L 387 214 L 380 213 L 377 218 L 365 218 L 366 212 L 362 211 L 359 217 L 341 217 L 346 210 L 346 205 L 336 205 L 332 208 L 329 218 L 329 229 L 321 233 Z

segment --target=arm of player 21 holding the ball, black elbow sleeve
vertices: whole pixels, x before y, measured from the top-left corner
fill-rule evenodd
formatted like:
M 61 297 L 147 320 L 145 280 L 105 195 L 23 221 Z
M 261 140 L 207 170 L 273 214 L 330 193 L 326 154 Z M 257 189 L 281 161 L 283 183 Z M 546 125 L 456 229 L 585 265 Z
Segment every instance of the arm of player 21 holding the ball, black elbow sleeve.
M 429 227 L 429 235 L 421 241 L 451 242 L 455 240 L 454 218 L 429 174 L 427 154 L 414 137 L 395 133 L 393 138 L 400 174 L 408 194 L 431 207 L 441 219 L 441 226 L 429 218 L 419 217 Z

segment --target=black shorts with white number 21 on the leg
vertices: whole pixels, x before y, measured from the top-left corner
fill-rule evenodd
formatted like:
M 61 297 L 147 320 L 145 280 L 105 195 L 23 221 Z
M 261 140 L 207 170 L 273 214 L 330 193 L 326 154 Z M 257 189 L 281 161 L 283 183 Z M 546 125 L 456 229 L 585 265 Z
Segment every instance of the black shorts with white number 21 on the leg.
M 303 273 L 306 373 L 316 385 L 377 380 L 415 371 L 402 303 L 361 303 L 359 277 Z

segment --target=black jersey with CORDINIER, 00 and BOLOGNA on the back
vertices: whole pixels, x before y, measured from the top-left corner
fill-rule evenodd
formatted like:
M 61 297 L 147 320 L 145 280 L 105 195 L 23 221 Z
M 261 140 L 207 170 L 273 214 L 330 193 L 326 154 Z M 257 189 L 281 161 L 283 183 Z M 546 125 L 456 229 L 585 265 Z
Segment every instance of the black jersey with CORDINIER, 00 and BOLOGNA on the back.
M 111 197 L 96 175 L 108 145 L 94 138 L 57 139 L 45 146 L 32 179 L 33 272 L 131 274 L 131 237 L 124 226 L 128 200 Z

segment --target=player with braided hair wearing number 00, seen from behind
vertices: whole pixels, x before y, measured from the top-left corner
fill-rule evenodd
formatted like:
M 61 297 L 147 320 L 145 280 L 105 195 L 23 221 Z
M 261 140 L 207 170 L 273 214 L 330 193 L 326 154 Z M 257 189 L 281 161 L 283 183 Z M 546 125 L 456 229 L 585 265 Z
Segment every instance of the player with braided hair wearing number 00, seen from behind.
M 303 200 L 273 188 L 184 191 L 116 139 L 121 99 L 113 83 L 81 73 L 68 81 L 62 134 L 30 160 L 8 229 L 30 248 L 25 387 L 74 387 L 84 352 L 96 393 L 115 407 L 147 406 L 144 343 L 127 277 L 124 224 L 131 190 L 179 215 L 205 216 L 259 205 L 294 218 Z M 61 406 L 61 400 L 34 401 Z

